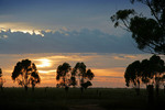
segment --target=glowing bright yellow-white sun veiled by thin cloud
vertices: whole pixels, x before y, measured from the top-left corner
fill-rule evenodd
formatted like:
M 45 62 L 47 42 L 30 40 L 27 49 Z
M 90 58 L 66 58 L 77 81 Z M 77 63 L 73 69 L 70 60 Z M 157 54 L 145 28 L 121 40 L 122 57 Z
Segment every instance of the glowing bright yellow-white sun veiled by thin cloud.
M 43 68 L 43 67 L 51 67 L 52 66 L 52 62 L 47 58 L 41 58 L 41 59 L 35 59 L 37 62 L 40 62 L 40 64 L 36 64 L 36 67 L 38 68 Z

